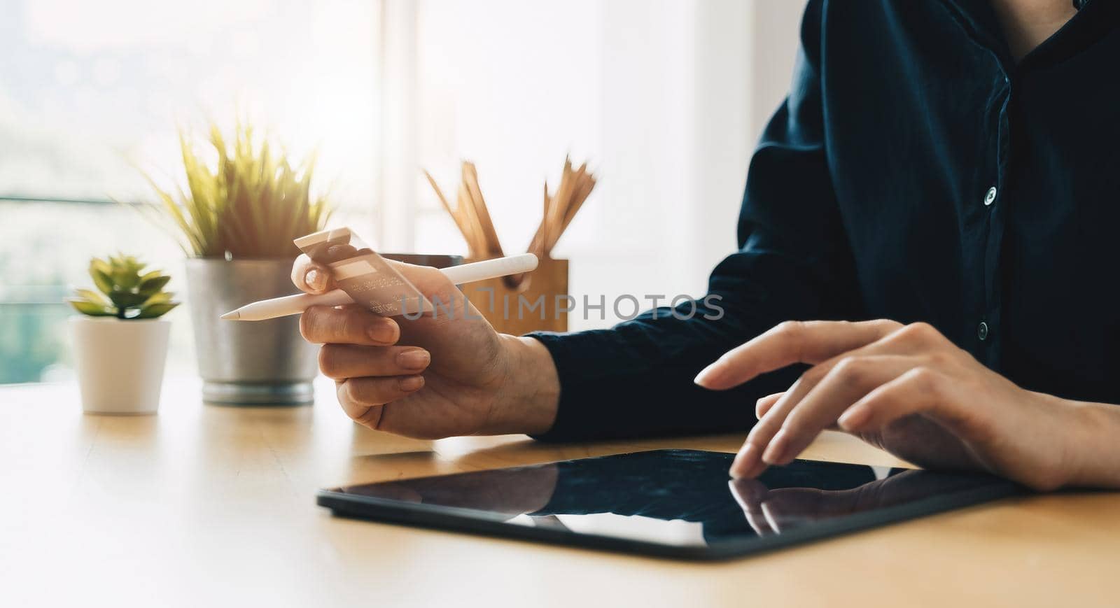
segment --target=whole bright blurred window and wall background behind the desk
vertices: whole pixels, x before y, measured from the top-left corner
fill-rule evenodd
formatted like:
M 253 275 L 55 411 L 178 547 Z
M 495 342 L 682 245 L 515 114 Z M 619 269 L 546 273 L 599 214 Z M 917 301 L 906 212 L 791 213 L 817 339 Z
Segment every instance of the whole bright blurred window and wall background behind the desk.
M 0 383 L 73 375 L 63 302 L 92 255 L 184 253 L 132 207 L 181 179 L 177 129 L 240 114 L 382 251 L 463 253 L 420 168 L 475 161 L 507 252 L 566 155 L 599 184 L 556 253 L 570 293 L 700 296 L 735 247 L 746 167 L 785 94 L 788 0 L 0 0 Z M 139 170 L 138 170 L 139 169 Z M 124 202 L 127 204 L 121 204 Z M 188 302 L 189 303 L 189 302 Z M 168 374 L 194 371 L 189 315 Z

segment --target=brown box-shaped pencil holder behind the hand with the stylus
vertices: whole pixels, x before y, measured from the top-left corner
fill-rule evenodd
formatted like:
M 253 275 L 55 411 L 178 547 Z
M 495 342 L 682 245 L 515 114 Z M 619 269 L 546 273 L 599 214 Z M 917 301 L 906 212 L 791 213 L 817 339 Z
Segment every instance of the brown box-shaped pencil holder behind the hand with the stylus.
M 502 334 L 567 331 L 568 260 L 542 258 L 536 270 L 513 278 L 489 279 L 461 287 L 470 303 Z

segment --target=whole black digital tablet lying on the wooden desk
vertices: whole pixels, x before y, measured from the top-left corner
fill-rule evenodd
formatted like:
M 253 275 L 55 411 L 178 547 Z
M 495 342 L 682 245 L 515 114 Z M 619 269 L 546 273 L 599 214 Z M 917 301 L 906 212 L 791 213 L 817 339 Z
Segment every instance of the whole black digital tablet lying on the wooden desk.
M 654 450 L 320 490 L 335 515 L 682 559 L 726 559 L 1023 492 L 997 477 Z

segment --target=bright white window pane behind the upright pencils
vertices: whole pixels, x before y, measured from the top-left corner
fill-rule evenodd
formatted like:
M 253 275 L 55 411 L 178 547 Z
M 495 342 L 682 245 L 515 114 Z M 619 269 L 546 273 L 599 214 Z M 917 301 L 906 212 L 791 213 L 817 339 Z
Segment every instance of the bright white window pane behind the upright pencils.
M 454 191 L 461 159 L 477 163 L 508 252 L 529 245 L 542 185 L 554 187 L 564 155 L 601 161 L 598 6 L 417 3 L 417 156 L 445 191 Z M 461 246 L 430 186 L 417 184 L 417 246 Z M 594 213 L 590 204 L 584 213 Z

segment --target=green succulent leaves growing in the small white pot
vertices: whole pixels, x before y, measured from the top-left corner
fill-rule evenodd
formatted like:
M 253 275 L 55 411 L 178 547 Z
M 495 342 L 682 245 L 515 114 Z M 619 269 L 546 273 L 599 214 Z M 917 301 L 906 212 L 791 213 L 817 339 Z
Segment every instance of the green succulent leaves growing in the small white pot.
M 94 258 L 90 261 L 90 277 L 97 290 L 76 289 L 75 297 L 66 301 L 91 317 L 155 319 L 179 302 L 171 300 L 174 293 L 164 291 L 171 278 L 159 270 L 144 272 L 147 265 L 132 255 Z

